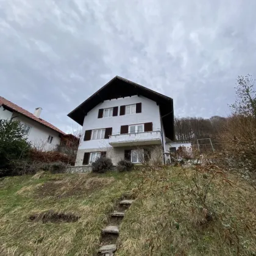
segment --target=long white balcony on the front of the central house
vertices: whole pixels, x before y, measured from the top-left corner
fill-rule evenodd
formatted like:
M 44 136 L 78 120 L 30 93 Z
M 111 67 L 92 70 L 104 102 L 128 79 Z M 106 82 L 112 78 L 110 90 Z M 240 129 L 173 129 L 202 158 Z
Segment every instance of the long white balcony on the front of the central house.
M 162 144 L 162 136 L 160 130 L 154 130 L 152 132 L 112 134 L 109 137 L 108 143 L 112 147 L 155 145 Z

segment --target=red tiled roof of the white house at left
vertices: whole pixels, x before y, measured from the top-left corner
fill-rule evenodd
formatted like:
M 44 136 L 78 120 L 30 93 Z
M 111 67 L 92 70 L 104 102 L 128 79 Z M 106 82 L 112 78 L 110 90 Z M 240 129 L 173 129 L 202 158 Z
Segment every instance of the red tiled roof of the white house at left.
M 56 132 L 61 133 L 62 135 L 66 135 L 65 132 L 62 132 L 62 130 L 58 129 L 57 127 L 53 126 L 52 124 L 48 123 L 47 121 L 44 121 L 41 118 L 37 118 L 37 116 L 34 116 L 32 113 L 28 112 L 27 110 L 24 110 L 24 108 L 19 107 L 18 105 L 7 101 L 7 99 L 0 96 L 0 107 L 1 105 L 4 105 L 5 107 L 10 108 L 11 110 L 21 113 L 21 115 L 27 116 L 30 119 L 33 119 L 34 121 L 37 121 L 40 124 L 43 124 L 44 126 L 47 126 L 51 128 L 52 130 L 55 130 Z

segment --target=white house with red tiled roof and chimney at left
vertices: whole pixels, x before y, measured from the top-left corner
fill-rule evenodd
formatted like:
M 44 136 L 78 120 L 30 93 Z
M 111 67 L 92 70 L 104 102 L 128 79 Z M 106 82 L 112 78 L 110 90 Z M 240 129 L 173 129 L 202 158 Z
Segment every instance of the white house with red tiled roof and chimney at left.
M 69 137 L 65 132 L 40 118 L 42 108 L 35 108 L 34 114 L 0 96 L 0 119 L 18 120 L 24 125 L 28 141 L 42 151 L 52 151 L 61 140 Z M 73 136 L 73 135 L 72 135 Z

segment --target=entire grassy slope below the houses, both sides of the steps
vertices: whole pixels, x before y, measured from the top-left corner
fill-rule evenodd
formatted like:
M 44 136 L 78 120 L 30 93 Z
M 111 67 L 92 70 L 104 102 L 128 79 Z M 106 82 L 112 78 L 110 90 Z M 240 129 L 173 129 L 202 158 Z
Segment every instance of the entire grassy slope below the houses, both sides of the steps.
M 219 174 L 179 168 L 8 177 L 0 182 L 0 255 L 93 255 L 108 213 L 126 193 L 137 201 L 121 224 L 116 255 L 253 255 L 256 192 L 229 179 L 232 187 Z M 81 218 L 28 221 L 49 209 Z

